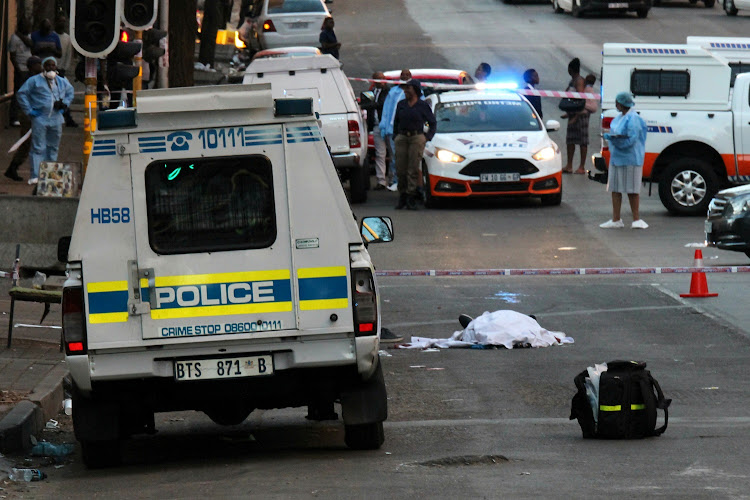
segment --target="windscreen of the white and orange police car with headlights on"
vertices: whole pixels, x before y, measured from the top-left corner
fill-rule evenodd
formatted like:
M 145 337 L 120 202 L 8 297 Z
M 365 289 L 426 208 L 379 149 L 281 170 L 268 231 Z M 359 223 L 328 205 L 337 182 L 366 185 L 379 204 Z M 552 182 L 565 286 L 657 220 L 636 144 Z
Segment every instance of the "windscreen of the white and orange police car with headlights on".
M 444 102 L 435 108 L 438 133 L 542 130 L 528 103 L 505 99 Z

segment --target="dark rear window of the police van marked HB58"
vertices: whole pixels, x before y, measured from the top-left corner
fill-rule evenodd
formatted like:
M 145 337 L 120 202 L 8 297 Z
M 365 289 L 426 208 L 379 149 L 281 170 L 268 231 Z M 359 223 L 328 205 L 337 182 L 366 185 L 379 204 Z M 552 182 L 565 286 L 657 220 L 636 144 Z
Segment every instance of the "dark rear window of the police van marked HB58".
M 265 248 L 276 240 L 264 156 L 156 161 L 145 175 L 148 237 L 158 254 Z

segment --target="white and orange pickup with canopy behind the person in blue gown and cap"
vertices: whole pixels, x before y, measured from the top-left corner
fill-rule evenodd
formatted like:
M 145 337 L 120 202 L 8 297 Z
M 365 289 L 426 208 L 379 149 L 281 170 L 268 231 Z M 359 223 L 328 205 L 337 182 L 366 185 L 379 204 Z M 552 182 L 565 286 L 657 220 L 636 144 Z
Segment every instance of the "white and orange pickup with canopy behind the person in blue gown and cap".
M 750 38 L 688 37 L 686 44 L 605 43 L 602 132 L 618 92 L 635 96 L 648 135 L 643 178 L 672 213 L 704 215 L 724 187 L 750 182 Z M 594 156 L 606 168 L 609 147 Z

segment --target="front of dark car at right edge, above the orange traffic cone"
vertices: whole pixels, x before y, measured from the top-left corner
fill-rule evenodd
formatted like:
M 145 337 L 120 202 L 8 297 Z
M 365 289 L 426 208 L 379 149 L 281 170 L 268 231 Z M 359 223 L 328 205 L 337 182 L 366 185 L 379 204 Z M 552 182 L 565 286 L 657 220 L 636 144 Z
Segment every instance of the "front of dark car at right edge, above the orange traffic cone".
M 724 189 L 708 205 L 706 243 L 750 257 L 750 184 Z

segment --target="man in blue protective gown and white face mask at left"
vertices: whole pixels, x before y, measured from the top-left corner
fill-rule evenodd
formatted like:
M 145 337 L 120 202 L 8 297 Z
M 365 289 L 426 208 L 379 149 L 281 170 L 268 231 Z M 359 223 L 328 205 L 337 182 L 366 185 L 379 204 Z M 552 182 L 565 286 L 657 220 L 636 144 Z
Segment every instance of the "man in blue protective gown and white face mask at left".
M 57 74 L 57 60 L 47 57 L 43 71 L 32 76 L 18 91 L 18 105 L 31 118 L 31 176 L 29 184 L 39 180 L 39 164 L 57 161 L 63 113 L 73 102 L 73 86 Z

